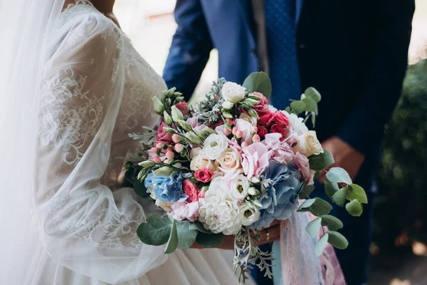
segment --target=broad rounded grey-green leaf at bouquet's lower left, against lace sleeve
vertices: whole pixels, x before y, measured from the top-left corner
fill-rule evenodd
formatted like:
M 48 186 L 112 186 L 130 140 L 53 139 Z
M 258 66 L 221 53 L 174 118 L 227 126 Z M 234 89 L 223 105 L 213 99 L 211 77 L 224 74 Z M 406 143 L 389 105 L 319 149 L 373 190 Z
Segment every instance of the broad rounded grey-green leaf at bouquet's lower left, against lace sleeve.
M 137 235 L 141 242 L 150 245 L 166 244 L 172 232 L 173 222 L 167 215 L 151 215 L 147 220 L 139 224 Z

